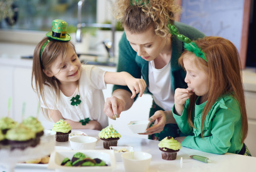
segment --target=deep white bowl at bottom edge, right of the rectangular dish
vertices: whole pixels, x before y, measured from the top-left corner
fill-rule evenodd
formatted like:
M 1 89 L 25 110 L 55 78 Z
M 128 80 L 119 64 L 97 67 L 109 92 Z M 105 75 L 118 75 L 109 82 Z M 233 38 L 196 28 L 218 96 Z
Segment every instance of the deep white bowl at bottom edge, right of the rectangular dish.
M 146 152 L 127 152 L 122 155 L 126 172 L 146 172 L 149 169 L 152 155 Z

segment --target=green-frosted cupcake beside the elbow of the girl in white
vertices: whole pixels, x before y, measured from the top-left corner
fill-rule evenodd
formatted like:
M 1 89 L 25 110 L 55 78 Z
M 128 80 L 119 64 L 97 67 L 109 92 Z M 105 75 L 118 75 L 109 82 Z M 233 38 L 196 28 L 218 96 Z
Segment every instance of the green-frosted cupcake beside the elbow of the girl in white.
M 57 142 L 69 141 L 69 133 L 71 133 L 72 127 L 64 119 L 54 123 L 52 130 L 56 132 L 55 140 Z

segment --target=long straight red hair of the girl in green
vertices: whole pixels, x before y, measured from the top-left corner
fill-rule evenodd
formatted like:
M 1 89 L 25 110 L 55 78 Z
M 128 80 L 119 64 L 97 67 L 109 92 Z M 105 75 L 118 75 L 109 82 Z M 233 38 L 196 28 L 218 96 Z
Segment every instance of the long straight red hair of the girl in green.
M 203 124 L 207 113 L 214 105 L 218 97 L 223 94 L 232 95 L 239 103 L 242 118 L 241 142 L 243 143 L 248 132 L 248 123 L 245 107 L 245 95 L 241 76 L 241 62 L 235 45 L 221 37 L 204 37 L 194 41 L 206 54 L 207 62 L 202 58 L 193 58 L 195 64 L 208 68 L 209 86 L 206 94 L 207 102 L 202 112 L 201 136 L 203 137 Z M 183 60 L 191 54 L 185 50 L 179 58 L 179 64 L 183 67 Z M 191 56 L 190 56 L 191 57 Z M 196 56 L 194 56 L 196 57 Z M 205 69 L 205 67 L 202 67 Z M 193 94 L 189 98 L 188 123 L 194 127 L 191 115 L 194 110 L 195 101 L 198 98 Z

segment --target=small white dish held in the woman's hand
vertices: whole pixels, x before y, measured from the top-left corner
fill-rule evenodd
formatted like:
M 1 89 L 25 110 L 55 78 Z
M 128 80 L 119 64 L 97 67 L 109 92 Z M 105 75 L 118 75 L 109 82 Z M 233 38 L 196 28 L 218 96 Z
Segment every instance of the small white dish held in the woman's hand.
M 127 126 L 133 133 L 145 133 L 150 123 L 151 122 L 148 120 L 131 121 L 127 124 Z

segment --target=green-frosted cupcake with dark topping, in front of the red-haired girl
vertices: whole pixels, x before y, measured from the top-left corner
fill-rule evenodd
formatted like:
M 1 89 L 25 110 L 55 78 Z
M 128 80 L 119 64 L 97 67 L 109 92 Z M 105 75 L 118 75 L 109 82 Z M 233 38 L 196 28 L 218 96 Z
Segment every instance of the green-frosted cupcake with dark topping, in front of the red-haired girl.
M 181 149 L 181 143 L 168 136 L 160 141 L 158 147 L 162 151 L 162 159 L 175 160 L 177 152 Z

